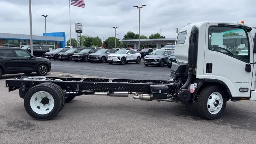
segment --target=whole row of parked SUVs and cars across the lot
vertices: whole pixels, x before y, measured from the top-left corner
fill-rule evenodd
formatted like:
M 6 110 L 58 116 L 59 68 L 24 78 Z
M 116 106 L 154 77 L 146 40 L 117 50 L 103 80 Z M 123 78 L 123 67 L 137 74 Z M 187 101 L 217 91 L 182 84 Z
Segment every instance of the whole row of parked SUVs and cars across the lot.
M 143 49 L 140 52 L 133 49 L 102 49 L 100 47 L 89 48 L 58 48 L 51 52 L 46 52 L 45 57 L 54 60 L 68 61 L 84 61 L 84 62 L 114 62 L 126 64 L 127 62 L 140 63 L 144 58 L 144 65 L 159 65 L 167 64 L 171 67 L 172 62 L 176 61 L 174 51 L 169 50 L 154 50 Z

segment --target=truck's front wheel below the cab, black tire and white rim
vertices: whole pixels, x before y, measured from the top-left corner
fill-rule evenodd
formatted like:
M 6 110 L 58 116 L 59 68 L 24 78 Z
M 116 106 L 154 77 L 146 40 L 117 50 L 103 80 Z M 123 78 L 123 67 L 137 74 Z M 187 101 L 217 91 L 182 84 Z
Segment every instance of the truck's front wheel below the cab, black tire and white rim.
M 206 86 L 198 96 L 198 112 L 202 118 L 215 120 L 224 112 L 226 102 L 226 92 L 221 87 Z

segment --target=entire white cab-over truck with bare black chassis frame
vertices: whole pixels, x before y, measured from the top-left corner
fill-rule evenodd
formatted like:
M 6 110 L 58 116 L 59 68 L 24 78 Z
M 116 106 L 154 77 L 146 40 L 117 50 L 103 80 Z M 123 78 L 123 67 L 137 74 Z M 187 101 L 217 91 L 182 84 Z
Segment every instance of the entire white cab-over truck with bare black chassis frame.
M 182 28 L 175 44 L 173 80 L 21 76 L 6 80 L 6 86 L 9 91 L 19 90 L 26 111 L 37 120 L 53 118 L 65 102 L 87 94 L 195 101 L 200 115 L 214 120 L 228 100 L 256 100 L 256 46 L 251 31 L 233 22 L 198 22 Z

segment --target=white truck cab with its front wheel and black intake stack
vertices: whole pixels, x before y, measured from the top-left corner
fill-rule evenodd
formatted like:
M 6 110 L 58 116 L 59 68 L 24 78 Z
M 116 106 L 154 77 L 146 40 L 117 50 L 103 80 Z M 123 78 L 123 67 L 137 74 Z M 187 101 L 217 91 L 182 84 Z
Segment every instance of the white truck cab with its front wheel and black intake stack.
M 219 117 L 227 100 L 256 100 L 251 30 L 230 22 L 198 22 L 180 30 L 171 76 L 184 82 L 179 96 L 189 92 L 206 118 Z

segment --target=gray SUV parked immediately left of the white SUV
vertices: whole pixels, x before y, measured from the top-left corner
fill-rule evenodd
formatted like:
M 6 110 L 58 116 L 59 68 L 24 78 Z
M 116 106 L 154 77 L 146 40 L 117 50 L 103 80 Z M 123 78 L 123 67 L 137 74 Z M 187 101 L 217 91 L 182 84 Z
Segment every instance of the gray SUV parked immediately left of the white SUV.
M 102 49 L 102 50 L 98 50 L 95 53 L 92 53 L 89 55 L 89 61 L 90 62 L 102 62 L 105 63 L 107 62 L 108 59 L 108 55 L 109 54 L 113 54 L 115 53 L 117 50 L 107 50 L 107 49 Z

